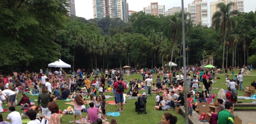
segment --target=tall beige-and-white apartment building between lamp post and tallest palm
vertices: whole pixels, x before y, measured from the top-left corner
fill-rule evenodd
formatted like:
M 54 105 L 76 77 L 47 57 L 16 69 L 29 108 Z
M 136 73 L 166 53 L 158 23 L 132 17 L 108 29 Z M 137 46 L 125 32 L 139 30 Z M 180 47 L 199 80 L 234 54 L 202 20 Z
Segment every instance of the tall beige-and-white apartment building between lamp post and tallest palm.
M 207 1 L 194 0 L 188 5 L 188 12 L 193 25 L 201 24 L 202 26 L 208 26 L 208 6 Z

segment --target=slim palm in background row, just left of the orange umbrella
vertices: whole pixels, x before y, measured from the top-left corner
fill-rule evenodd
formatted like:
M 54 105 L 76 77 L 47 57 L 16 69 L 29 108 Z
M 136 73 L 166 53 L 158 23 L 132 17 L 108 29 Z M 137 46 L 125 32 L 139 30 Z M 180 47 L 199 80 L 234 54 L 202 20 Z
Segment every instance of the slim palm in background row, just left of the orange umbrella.
M 126 49 L 126 43 L 123 40 L 123 37 L 120 33 L 117 33 L 113 36 L 113 42 L 112 42 L 112 52 L 119 53 L 119 64 L 120 64 L 120 69 L 122 69 L 122 64 L 121 64 L 121 52 L 125 52 Z

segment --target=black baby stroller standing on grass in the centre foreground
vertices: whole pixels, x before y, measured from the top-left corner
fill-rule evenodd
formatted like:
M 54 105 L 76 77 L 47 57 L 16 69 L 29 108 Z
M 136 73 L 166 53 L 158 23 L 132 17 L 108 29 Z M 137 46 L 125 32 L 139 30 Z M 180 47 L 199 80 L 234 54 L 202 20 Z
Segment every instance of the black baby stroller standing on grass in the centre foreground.
M 137 114 L 139 114 L 139 112 L 144 112 L 145 114 L 147 114 L 146 112 L 146 103 L 147 103 L 147 97 L 139 97 L 138 101 L 135 102 L 135 112 L 137 112 Z

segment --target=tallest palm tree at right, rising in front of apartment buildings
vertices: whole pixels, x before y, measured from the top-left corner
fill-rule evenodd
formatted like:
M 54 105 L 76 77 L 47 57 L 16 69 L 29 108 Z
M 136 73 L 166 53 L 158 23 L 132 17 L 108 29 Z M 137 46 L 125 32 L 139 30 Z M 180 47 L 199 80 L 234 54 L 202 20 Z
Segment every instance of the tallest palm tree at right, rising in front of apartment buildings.
M 234 5 L 233 2 L 229 2 L 225 5 L 223 2 L 218 3 L 216 5 L 219 8 L 219 11 L 215 12 L 212 16 L 211 22 L 214 29 L 217 31 L 221 28 L 223 39 L 223 57 L 222 57 L 222 69 L 224 69 L 224 55 L 225 55 L 225 41 L 226 34 L 231 30 L 231 27 L 235 26 L 234 20 L 231 18 L 232 16 L 238 14 L 238 10 L 230 11 L 230 8 Z

